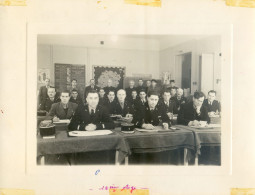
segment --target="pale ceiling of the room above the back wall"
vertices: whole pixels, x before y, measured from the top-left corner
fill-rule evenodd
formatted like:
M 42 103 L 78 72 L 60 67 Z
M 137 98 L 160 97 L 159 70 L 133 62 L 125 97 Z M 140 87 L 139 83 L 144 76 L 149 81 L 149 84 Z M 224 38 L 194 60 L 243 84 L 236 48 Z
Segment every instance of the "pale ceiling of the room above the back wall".
M 159 51 L 205 35 L 38 35 L 38 44 Z

